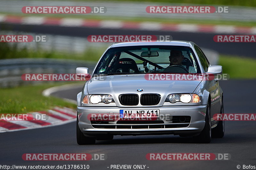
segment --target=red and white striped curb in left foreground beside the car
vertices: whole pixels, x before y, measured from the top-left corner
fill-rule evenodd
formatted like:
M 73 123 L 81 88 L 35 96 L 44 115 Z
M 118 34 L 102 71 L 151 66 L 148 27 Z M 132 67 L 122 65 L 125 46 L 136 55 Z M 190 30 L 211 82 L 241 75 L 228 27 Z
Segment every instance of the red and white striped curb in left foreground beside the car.
M 47 120 L 34 120 L 32 117 L 28 120 L 0 120 L 0 132 L 17 131 L 25 129 L 37 129 L 49 126 L 56 126 L 74 122 L 76 120 L 76 110 L 67 107 L 54 107 L 44 112 L 31 112 L 31 115 L 45 114 Z

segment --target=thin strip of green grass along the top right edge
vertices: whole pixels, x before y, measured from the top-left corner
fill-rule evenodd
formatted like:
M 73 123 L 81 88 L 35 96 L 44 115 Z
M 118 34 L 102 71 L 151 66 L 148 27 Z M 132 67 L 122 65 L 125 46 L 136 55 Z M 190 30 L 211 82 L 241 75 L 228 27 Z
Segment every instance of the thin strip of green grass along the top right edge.
M 49 1 L 49 0 L 48 0 Z M 63 1 L 63 0 L 60 0 Z M 66 0 L 67 1 L 67 0 Z M 92 1 L 92 0 L 73 0 L 73 1 Z M 97 0 L 94 0 L 94 2 Z M 108 0 L 100 0 L 108 1 Z M 120 0 L 116 0 L 120 1 Z M 156 3 L 178 3 L 178 4 L 211 4 L 211 5 L 239 5 L 239 6 L 256 6 L 255 0 L 129 0 L 130 2 L 156 2 Z M 127 2 L 127 1 L 124 1 Z M 148 3 L 150 5 L 150 3 Z

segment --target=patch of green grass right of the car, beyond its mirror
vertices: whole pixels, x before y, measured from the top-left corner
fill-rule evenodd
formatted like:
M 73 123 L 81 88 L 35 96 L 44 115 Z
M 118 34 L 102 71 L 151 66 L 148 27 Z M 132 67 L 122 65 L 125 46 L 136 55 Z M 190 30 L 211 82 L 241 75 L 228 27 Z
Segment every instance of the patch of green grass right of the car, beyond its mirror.
M 220 55 L 219 64 L 223 73 L 228 73 L 230 78 L 255 79 L 256 59 L 231 55 Z

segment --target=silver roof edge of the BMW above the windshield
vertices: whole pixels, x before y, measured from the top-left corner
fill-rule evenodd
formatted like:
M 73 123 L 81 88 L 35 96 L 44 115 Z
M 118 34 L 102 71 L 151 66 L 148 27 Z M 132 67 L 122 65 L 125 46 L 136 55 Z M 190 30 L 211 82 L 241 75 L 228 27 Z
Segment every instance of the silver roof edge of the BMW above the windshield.
M 172 40 L 172 41 L 160 41 L 160 42 L 117 42 L 114 43 L 113 47 L 127 47 L 127 46 L 148 46 L 148 45 L 167 45 L 167 46 L 186 46 L 189 47 L 189 43 L 193 44 L 191 41 L 181 41 L 181 40 Z

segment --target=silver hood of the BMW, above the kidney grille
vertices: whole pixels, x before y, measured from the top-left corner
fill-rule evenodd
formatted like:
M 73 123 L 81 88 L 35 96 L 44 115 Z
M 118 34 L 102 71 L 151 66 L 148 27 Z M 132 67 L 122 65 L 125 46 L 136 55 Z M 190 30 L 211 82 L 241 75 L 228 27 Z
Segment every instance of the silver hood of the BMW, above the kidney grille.
M 89 94 L 110 94 L 113 97 L 124 93 L 193 93 L 202 80 L 146 80 L 145 75 L 100 76 L 88 81 Z M 143 89 L 138 92 L 137 89 Z M 114 97 L 115 98 L 115 97 Z

